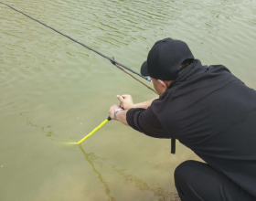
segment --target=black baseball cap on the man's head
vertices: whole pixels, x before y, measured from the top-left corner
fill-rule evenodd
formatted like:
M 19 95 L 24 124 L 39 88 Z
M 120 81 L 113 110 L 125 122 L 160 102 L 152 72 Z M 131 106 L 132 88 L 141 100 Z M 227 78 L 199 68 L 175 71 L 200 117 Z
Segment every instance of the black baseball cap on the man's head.
M 194 58 L 187 44 L 167 37 L 157 41 L 150 49 L 141 74 L 154 79 L 175 80 L 179 66 L 187 58 Z

